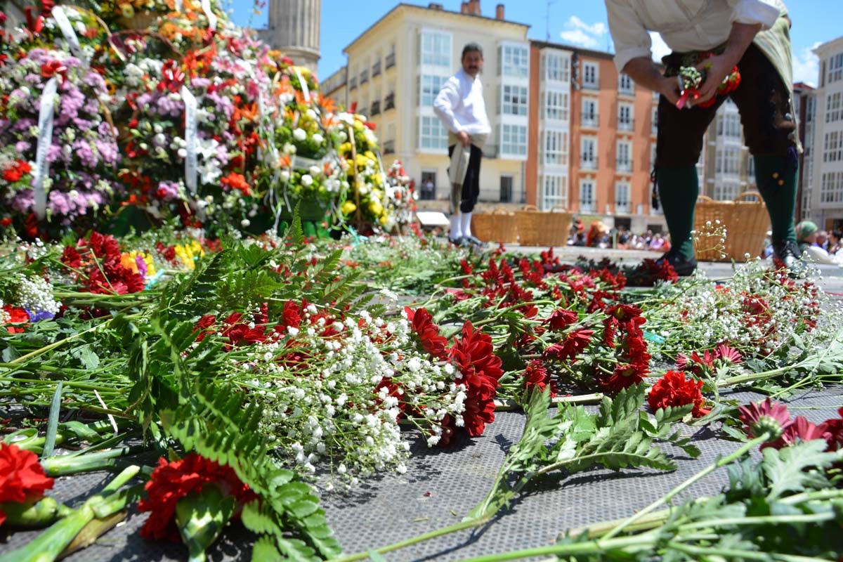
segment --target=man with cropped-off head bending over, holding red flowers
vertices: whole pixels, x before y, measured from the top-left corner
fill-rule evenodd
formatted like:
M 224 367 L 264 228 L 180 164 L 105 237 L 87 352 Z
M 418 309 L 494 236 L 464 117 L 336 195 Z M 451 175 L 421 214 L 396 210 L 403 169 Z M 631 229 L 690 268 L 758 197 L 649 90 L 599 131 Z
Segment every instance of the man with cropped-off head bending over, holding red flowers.
M 779 0 L 605 0 L 615 40 L 615 65 L 636 83 L 661 94 L 653 177 L 673 246 L 667 260 L 680 276 L 696 268 L 691 230 L 699 183 L 695 164 L 703 135 L 726 97 L 717 94 L 737 66 L 741 81 L 728 94 L 740 110 L 744 138 L 755 161 L 758 190 L 767 205 L 773 253 L 792 272 L 800 252 L 793 229 L 797 193 L 796 119 L 792 106 L 790 19 Z M 662 74 L 652 62 L 649 31 L 673 52 Z M 706 57 L 710 56 L 710 57 Z M 679 67 L 706 72 L 700 97 L 679 109 Z M 711 107 L 699 104 L 715 98 Z

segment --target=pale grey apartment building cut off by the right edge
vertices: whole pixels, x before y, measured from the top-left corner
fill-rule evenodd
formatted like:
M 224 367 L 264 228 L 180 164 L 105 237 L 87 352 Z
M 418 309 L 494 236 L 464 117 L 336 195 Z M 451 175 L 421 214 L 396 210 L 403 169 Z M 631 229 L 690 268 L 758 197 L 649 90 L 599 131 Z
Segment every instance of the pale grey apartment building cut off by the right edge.
M 843 36 L 819 45 L 811 190 L 807 217 L 826 230 L 843 228 Z M 807 134 L 807 133 L 806 133 Z M 807 158 L 807 157 L 806 157 Z

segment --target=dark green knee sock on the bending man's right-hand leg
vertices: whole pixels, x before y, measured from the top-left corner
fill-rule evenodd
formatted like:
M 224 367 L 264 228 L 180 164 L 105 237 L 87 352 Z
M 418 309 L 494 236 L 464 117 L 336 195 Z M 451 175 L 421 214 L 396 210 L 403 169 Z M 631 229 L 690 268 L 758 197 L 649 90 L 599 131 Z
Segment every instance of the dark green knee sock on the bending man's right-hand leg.
M 755 156 L 755 185 L 770 213 L 773 240 L 796 242 L 793 215 L 799 178 L 797 164 L 788 167 L 784 156 Z M 788 169 L 790 168 L 790 169 Z

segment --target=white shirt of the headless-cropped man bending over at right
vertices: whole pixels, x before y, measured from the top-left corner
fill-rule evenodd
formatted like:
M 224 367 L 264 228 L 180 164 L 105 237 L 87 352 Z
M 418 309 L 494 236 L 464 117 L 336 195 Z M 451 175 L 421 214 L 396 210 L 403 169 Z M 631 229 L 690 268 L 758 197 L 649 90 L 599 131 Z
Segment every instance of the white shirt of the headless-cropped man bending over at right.
M 675 52 L 708 51 L 728 40 L 732 24 L 761 24 L 770 29 L 781 0 L 605 0 L 609 30 L 615 40 L 615 66 L 652 58 L 648 31 L 658 31 Z

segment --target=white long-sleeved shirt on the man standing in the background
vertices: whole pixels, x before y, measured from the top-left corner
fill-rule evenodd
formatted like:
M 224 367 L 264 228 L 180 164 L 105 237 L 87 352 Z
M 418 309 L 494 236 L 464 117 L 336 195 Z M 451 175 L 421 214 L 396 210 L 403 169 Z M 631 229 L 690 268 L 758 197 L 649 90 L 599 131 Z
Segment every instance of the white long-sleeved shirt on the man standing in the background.
M 443 84 L 433 110 L 448 131 L 465 131 L 471 135 L 488 135 L 491 132 L 486 102 L 483 101 L 483 83 L 480 77 L 471 78 L 459 70 Z

